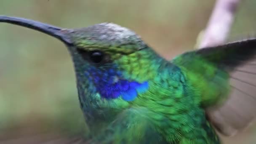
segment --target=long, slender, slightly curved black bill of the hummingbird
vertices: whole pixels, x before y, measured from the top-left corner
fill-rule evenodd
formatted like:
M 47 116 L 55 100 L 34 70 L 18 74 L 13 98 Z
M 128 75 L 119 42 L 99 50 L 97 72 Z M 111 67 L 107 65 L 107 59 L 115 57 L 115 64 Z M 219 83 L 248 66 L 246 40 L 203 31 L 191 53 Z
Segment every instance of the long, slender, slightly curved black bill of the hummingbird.
M 8 17 L 8 16 L 0 16 L 0 22 L 16 24 L 22 27 L 27 27 L 29 29 L 35 29 L 37 31 L 56 37 L 66 44 L 71 44 L 69 35 L 67 35 L 69 31 L 68 29 L 62 29 L 49 24 L 41 23 L 39 21 L 32 21 L 29 19 L 22 19 L 17 17 Z

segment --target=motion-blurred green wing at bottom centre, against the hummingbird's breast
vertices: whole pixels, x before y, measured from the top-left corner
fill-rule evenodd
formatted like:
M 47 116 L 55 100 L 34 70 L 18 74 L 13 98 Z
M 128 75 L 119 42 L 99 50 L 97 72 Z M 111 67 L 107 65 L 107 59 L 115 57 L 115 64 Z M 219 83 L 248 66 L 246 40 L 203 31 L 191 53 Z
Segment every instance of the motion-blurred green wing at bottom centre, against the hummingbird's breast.
M 146 108 L 129 108 L 120 113 L 90 144 L 158 144 Z

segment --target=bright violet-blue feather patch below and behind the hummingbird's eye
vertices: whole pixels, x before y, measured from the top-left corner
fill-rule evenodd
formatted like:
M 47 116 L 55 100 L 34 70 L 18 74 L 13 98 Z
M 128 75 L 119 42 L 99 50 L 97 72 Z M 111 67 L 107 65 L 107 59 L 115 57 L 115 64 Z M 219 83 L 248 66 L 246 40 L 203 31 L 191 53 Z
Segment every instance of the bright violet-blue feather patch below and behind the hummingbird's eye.
M 105 99 L 117 99 L 121 96 L 125 101 L 133 101 L 138 94 L 146 92 L 149 88 L 147 81 L 138 83 L 120 79 L 121 72 L 114 69 L 102 72 L 92 67 L 85 72 L 85 76 L 94 83 L 101 97 Z

